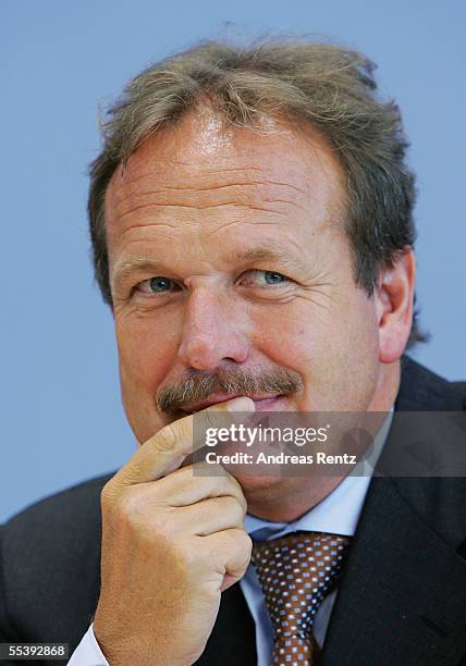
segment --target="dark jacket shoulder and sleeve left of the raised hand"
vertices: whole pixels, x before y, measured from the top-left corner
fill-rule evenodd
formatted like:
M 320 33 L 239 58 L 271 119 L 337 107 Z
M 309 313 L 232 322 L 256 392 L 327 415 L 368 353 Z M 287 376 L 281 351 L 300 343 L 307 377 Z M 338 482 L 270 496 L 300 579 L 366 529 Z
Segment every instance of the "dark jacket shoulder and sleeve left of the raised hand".
M 100 493 L 111 477 L 46 497 L 0 528 L 4 637 L 79 642 L 99 594 Z

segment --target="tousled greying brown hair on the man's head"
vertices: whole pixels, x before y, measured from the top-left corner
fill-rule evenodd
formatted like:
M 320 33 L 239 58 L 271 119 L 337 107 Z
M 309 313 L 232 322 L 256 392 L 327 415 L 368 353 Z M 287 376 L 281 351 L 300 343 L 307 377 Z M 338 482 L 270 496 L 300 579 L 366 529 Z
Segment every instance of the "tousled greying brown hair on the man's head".
M 206 102 L 237 127 L 285 118 L 320 132 L 346 175 L 354 280 L 371 296 L 380 270 L 416 238 L 408 143 L 395 102 L 378 99 L 375 69 L 357 51 L 329 44 L 268 39 L 242 48 L 208 41 L 133 78 L 107 113 L 103 148 L 90 165 L 90 237 L 103 300 L 112 307 L 105 221 L 111 176 L 148 137 Z M 407 346 L 425 340 L 415 312 Z

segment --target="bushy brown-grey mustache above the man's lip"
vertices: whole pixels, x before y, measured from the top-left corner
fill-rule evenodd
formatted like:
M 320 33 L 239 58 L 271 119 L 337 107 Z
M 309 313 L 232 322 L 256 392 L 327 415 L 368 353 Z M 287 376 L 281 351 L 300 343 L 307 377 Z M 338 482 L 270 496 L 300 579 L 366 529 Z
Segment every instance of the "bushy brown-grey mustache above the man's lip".
M 302 387 L 299 375 L 285 369 L 263 372 L 221 368 L 213 373 L 208 370 L 191 370 L 173 386 L 162 388 L 157 403 L 160 411 L 173 414 L 183 409 L 183 405 L 208 399 L 213 393 L 290 395 Z

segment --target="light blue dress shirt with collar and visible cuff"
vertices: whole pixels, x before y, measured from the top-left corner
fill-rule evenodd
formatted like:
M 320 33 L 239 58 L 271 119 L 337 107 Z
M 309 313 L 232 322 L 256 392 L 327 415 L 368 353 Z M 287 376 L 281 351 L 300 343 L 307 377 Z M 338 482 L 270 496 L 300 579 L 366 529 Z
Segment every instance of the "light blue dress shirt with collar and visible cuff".
M 329 532 L 353 536 L 363 509 L 371 473 L 390 430 L 393 407 L 388 414 L 377 437 L 370 457 L 354 470 L 319 504 L 294 522 L 270 522 L 246 514 L 245 530 L 255 540 L 279 539 L 289 532 Z M 256 570 L 249 565 L 240 581 L 241 589 L 256 625 L 257 666 L 269 666 L 273 651 L 273 629 L 263 601 Z M 338 590 L 321 603 L 314 619 L 314 634 L 323 644 Z M 94 634 L 93 625 L 73 652 L 68 666 L 109 666 Z

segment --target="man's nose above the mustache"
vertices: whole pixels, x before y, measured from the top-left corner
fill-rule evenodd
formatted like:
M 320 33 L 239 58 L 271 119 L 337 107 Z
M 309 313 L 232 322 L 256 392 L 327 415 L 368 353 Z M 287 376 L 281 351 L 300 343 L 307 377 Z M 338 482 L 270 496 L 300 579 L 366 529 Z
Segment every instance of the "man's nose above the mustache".
M 213 370 L 224 361 L 243 362 L 248 356 L 245 313 L 225 294 L 206 287 L 193 289 L 186 303 L 179 358 L 185 367 Z

